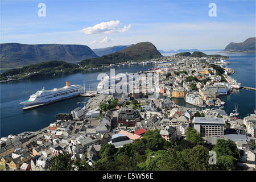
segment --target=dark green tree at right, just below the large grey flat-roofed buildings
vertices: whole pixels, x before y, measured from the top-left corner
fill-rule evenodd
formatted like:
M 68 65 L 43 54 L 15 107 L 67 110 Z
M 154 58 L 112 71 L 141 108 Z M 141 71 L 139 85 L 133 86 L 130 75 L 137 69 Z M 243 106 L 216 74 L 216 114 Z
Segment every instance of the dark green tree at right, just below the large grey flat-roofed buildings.
M 217 152 L 217 157 L 222 155 L 230 155 L 238 159 L 238 149 L 236 143 L 232 140 L 218 139 L 213 151 Z

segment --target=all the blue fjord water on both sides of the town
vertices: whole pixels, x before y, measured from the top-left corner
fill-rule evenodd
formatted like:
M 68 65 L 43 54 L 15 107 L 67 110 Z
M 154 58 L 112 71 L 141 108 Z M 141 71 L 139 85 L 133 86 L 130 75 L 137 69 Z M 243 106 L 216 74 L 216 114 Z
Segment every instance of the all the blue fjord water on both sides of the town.
M 228 61 L 232 64 L 228 68 L 234 68 L 235 73 L 231 75 L 236 78 L 242 86 L 255 88 L 255 53 L 222 53 L 222 52 L 204 52 L 208 55 L 221 54 L 230 56 Z M 167 56 L 164 54 L 164 56 Z M 135 73 L 146 71 L 154 65 L 131 65 L 115 68 L 115 73 Z M 103 72 L 103 71 L 102 71 Z M 49 104 L 31 110 L 22 110 L 20 101 L 27 100 L 31 94 L 45 87 L 45 89 L 60 88 L 65 85 L 65 81 L 71 81 L 71 84 L 82 85 L 85 81 L 86 89 L 96 89 L 99 80 L 97 76 L 102 72 L 76 73 L 73 75 L 64 75 L 52 78 L 40 78 L 36 80 L 22 80 L 13 82 L 4 82 L 1 84 L 1 134 L 18 134 L 23 131 L 36 131 L 47 127 L 49 123 L 55 122 L 57 113 L 69 113 L 71 110 L 83 104 L 77 102 L 88 101 L 85 97 L 76 97 L 70 100 Z M 110 71 L 104 71 L 109 75 Z M 221 100 L 226 102 L 226 113 L 234 110 L 234 104 L 238 104 L 238 112 L 243 118 L 255 109 L 255 91 L 240 89 L 231 96 L 221 96 Z M 184 99 L 175 100 L 176 104 L 195 107 L 184 102 Z M 203 107 L 199 107 L 203 109 Z

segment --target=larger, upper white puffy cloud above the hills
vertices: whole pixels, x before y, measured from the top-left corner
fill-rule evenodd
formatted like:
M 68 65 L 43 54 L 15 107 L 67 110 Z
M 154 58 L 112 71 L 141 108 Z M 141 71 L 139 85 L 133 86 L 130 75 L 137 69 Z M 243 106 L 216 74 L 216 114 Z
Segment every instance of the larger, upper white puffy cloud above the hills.
M 93 27 L 87 27 L 79 31 L 84 34 L 110 34 L 114 32 L 125 32 L 131 27 L 130 24 L 124 27 L 119 27 L 119 24 L 119 20 L 111 20 L 109 22 L 101 22 Z

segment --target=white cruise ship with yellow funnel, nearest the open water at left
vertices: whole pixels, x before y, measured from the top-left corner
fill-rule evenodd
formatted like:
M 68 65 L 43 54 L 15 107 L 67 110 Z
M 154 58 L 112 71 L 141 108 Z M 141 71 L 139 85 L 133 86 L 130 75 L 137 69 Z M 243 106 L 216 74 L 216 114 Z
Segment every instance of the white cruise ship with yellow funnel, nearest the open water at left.
M 84 93 L 84 87 L 81 85 L 70 85 L 69 81 L 66 81 L 66 86 L 62 88 L 55 88 L 52 90 L 39 90 L 35 94 L 32 94 L 27 101 L 20 102 L 20 104 L 27 106 L 47 104 L 51 102 L 66 100 L 68 98 L 79 96 Z

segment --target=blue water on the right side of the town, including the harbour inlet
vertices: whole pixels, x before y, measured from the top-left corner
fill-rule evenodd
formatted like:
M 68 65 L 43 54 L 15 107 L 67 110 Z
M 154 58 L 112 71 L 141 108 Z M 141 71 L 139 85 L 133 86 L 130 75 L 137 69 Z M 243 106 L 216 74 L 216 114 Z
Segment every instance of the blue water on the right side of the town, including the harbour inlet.
M 235 73 L 232 76 L 241 82 L 242 86 L 250 86 L 255 88 L 255 53 L 223 53 L 223 52 L 212 52 L 203 51 L 207 55 L 220 54 L 224 56 L 229 56 L 228 68 L 235 69 Z M 164 54 L 165 55 L 165 54 Z M 171 54 L 169 54 L 171 55 Z M 172 53 L 174 55 L 174 53 Z M 165 56 L 168 56 L 167 54 Z M 240 115 L 238 118 L 243 118 L 247 114 L 254 113 L 255 108 L 255 94 L 254 90 L 235 90 L 232 95 L 220 96 L 220 99 L 226 104 L 224 110 L 227 114 L 230 114 L 234 110 L 234 105 L 238 104 L 238 113 Z M 176 104 L 186 107 L 195 107 L 193 105 L 187 104 L 183 98 L 172 98 Z M 197 107 L 201 110 L 205 107 Z M 209 108 L 209 107 L 208 107 Z

